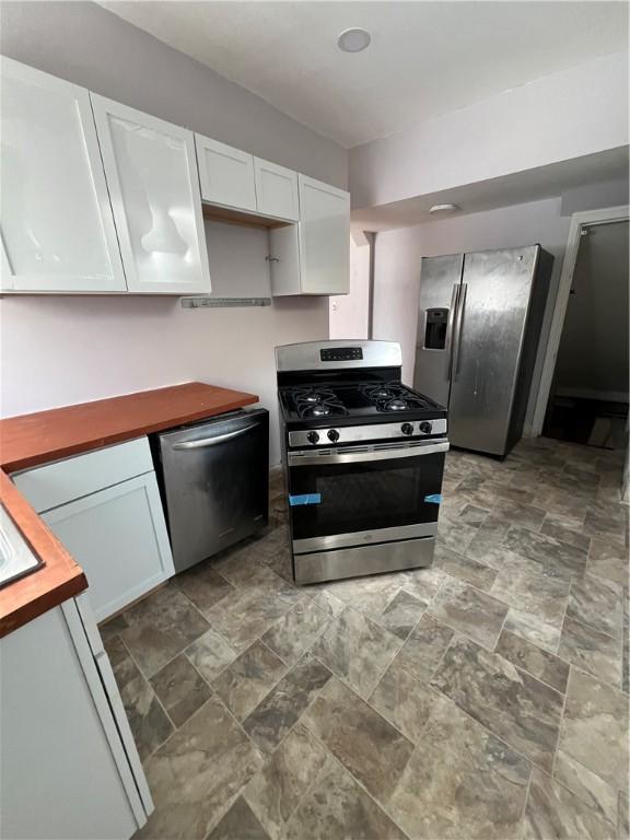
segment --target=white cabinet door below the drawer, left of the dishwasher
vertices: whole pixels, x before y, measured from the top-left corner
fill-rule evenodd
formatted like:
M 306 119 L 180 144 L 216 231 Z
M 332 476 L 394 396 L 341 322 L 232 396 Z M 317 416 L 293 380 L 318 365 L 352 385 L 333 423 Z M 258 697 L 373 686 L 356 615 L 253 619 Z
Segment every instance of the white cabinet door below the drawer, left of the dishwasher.
M 85 572 L 97 621 L 175 573 L 153 472 L 55 508 L 43 518 Z

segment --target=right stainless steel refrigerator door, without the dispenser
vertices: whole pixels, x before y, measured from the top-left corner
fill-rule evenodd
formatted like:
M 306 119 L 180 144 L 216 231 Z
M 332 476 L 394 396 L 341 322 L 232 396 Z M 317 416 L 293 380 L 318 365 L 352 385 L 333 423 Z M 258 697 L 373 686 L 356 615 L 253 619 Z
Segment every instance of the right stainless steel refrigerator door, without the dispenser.
M 453 335 L 448 436 L 504 455 L 540 247 L 466 254 Z

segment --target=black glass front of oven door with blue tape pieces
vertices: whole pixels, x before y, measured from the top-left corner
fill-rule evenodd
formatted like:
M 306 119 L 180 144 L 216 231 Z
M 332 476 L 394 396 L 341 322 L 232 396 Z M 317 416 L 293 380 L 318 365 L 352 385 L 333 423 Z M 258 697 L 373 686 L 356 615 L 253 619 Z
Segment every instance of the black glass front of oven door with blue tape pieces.
M 436 522 L 443 470 L 444 453 L 292 465 L 293 539 Z

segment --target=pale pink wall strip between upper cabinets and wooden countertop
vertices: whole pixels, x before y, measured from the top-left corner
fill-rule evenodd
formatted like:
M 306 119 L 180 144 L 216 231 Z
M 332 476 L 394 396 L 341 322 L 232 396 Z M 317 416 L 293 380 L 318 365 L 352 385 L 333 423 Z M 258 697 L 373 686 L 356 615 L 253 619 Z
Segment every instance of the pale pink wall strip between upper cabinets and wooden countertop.
M 0 300 L 1 413 L 11 416 L 200 380 L 254 392 L 271 411 L 278 463 L 276 345 L 326 337 L 328 299 L 183 310 L 163 298 Z

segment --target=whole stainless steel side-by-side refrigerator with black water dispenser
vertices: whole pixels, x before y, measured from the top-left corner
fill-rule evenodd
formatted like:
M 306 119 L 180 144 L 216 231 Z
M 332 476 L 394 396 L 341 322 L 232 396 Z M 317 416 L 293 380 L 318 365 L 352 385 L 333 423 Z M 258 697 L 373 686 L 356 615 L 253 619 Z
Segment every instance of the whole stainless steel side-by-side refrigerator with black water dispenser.
M 453 446 L 522 436 L 552 264 L 540 245 L 422 259 L 413 387 L 448 407 Z

